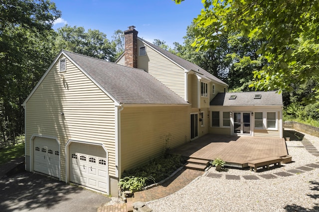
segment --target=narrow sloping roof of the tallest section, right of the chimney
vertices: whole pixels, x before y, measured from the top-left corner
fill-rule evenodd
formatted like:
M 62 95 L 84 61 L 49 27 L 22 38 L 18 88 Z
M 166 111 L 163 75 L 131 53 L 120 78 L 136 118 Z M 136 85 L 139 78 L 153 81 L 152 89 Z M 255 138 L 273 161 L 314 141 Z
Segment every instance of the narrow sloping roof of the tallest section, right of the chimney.
M 153 49 L 155 49 L 156 51 L 160 52 L 160 54 L 164 55 L 165 57 L 167 57 L 168 59 L 172 60 L 173 62 L 175 62 L 176 64 L 178 64 L 179 66 L 181 66 L 182 68 L 186 69 L 187 71 L 194 71 L 195 73 L 199 74 L 199 75 L 203 75 L 206 78 L 210 79 L 210 80 L 214 80 L 217 83 L 220 83 L 224 86 L 228 86 L 226 83 L 224 83 L 223 81 L 221 81 L 220 79 L 218 79 L 217 77 L 215 77 L 214 75 L 210 74 L 209 72 L 207 72 L 206 70 L 202 69 L 201 67 L 185 60 L 182 59 L 172 53 L 170 53 L 169 51 L 166 51 L 142 38 L 138 38 L 140 39 L 142 42 L 146 43 L 148 46 L 152 47 Z

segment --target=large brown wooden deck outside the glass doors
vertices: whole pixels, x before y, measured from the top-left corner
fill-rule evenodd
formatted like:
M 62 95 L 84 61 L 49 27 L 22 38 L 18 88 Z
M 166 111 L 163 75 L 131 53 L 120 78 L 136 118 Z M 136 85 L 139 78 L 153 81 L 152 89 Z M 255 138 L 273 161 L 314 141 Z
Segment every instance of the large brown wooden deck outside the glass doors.
M 220 157 L 233 167 L 247 167 L 249 160 L 288 155 L 284 138 L 215 134 L 206 134 L 170 152 L 196 159 Z

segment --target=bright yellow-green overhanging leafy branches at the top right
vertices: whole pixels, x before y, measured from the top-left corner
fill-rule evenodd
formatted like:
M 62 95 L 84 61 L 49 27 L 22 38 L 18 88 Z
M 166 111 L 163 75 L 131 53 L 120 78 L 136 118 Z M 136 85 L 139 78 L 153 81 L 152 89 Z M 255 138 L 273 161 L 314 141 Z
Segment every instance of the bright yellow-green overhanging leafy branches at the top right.
M 254 71 L 255 89 L 292 91 L 296 82 L 319 80 L 319 0 L 203 0 L 203 4 L 194 19 L 197 50 L 215 49 L 222 34 L 237 31 L 264 40 L 256 54 L 267 63 Z M 317 85 L 308 100 L 318 98 Z

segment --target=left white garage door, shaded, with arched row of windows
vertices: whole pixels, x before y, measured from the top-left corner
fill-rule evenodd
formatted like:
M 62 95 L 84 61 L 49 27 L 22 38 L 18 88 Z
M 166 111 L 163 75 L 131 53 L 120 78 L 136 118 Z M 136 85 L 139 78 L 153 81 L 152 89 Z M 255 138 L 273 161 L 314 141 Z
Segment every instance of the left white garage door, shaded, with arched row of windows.
M 60 151 L 55 139 L 35 137 L 33 143 L 34 171 L 59 177 Z

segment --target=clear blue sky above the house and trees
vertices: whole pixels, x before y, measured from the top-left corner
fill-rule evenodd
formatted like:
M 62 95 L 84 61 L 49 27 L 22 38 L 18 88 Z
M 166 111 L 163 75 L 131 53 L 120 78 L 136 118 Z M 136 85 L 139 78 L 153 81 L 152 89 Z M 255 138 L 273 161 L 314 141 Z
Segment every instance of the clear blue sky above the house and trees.
M 136 26 L 138 36 L 153 42 L 154 39 L 183 42 L 186 28 L 203 8 L 201 0 L 185 0 L 175 4 L 172 0 L 52 0 L 62 11 L 54 29 L 68 24 L 83 26 L 85 30 L 98 29 L 112 40 L 114 31 Z

